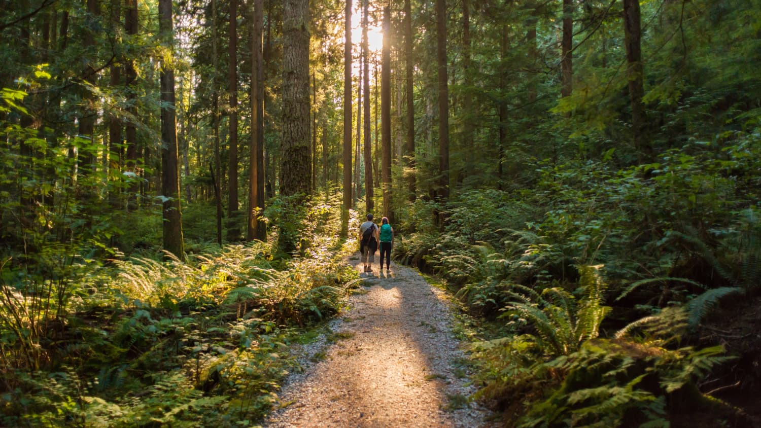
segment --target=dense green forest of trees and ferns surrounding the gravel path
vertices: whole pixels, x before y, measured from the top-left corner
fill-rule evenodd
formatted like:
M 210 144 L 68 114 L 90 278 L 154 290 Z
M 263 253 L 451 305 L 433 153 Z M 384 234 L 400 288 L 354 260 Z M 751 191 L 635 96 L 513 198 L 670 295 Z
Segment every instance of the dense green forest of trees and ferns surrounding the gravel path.
M 508 425 L 759 423 L 761 1 L 0 6 L 0 424 L 256 420 L 368 212 Z

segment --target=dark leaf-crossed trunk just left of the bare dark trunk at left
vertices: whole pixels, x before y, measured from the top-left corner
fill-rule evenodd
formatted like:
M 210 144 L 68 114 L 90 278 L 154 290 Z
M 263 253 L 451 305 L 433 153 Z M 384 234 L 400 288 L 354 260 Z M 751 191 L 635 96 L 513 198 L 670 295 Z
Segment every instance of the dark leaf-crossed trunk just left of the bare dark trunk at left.
M 137 0 L 125 0 L 124 2 L 124 31 L 127 36 L 134 37 L 138 34 L 138 2 Z M 63 35 L 63 33 L 62 33 Z M 65 40 L 65 37 L 63 38 Z M 126 121 L 124 128 L 124 139 L 126 144 L 126 161 L 124 168 L 127 173 L 130 173 L 132 182 L 127 189 L 127 211 L 135 211 L 137 209 L 136 196 L 139 192 L 139 181 L 137 180 L 138 173 L 138 138 L 137 128 L 135 122 L 137 119 L 137 80 L 138 74 L 135 71 L 135 59 L 128 58 L 125 61 L 124 70 L 124 84 L 126 85 L 127 93 L 127 113 L 129 113 L 129 120 Z

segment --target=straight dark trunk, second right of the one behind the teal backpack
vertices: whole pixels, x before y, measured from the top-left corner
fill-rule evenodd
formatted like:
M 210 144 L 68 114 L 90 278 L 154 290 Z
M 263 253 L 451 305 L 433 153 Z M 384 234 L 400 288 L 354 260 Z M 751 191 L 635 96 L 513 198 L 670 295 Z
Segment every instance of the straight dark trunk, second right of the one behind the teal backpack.
M 447 0 L 436 0 L 436 57 L 438 59 L 438 192 L 449 198 L 449 88 L 447 81 Z

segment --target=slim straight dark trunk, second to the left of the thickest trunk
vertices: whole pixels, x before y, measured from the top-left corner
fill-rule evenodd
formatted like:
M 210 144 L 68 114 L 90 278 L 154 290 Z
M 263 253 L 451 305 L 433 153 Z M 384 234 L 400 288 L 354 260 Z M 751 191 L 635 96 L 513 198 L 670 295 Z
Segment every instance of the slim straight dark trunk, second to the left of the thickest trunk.
M 228 241 L 240 239 L 237 198 L 237 0 L 230 0 L 228 44 L 228 94 L 230 97 L 230 147 L 228 147 Z

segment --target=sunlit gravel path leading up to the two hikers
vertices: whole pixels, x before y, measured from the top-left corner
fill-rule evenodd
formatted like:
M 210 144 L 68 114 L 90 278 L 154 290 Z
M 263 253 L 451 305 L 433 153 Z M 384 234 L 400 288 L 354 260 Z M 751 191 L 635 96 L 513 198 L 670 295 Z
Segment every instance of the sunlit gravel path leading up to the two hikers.
M 330 326 L 337 340 L 307 347 L 304 360 L 324 359 L 288 379 L 265 426 L 484 426 L 444 292 L 396 263 L 361 276 L 365 292 Z

